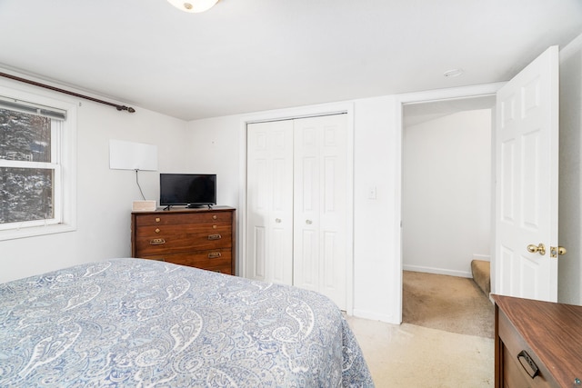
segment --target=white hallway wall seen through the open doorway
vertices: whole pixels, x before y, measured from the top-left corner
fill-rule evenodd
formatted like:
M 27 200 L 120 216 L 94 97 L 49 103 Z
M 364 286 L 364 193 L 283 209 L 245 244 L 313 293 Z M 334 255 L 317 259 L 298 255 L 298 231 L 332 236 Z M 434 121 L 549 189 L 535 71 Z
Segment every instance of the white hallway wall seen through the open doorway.
M 448 114 L 403 132 L 404 269 L 471 277 L 489 260 L 491 110 Z

